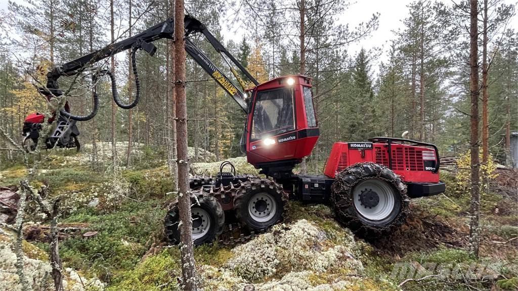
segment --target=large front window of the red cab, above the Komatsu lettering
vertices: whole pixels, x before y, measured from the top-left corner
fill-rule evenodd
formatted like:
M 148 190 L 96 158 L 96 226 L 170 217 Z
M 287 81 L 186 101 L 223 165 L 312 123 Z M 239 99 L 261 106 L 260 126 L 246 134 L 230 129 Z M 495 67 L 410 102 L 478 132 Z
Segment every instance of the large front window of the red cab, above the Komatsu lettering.
M 288 88 L 257 93 L 252 139 L 276 136 L 295 130 L 293 94 Z

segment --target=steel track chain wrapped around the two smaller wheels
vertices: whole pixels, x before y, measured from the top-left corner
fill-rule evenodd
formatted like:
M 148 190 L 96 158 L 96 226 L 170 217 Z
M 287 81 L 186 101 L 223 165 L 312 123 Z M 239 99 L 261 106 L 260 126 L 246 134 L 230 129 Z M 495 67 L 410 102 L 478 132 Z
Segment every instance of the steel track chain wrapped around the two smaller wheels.
M 191 195 L 193 197 L 198 197 L 199 195 L 211 195 L 217 198 L 219 201 L 222 201 L 222 199 L 226 199 L 225 197 L 232 197 L 235 200 L 236 197 L 244 195 L 248 187 L 253 188 L 257 186 L 267 186 L 270 188 L 277 188 L 277 193 L 282 195 L 281 199 L 283 201 L 283 211 L 281 220 L 277 221 L 275 224 L 286 219 L 287 211 L 289 210 L 289 196 L 286 192 L 282 191 L 281 185 L 277 184 L 275 181 L 272 181 L 270 179 L 260 178 L 257 176 L 253 176 L 251 174 L 238 175 L 236 176 L 236 178 L 240 180 L 236 184 L 231 182 L 227 186 L 221 185 L 220 187 L 216 187 L 214 185 L 215 178 L 206 176 L 195 176 L 190 180 L 189 185 L 191 186 L 191 188 L 197 187 L 198 189 L 191 190 Z M 209 188 L 207 187 L 208 185 L 212 186 Z M 175 199 L 172 203 L 169 204 L 168 209 L 170 210 L 174 208 L 177 203 L 178 199 Z M 166 214 L 166 217 L 167 215 L 168 213 Z M 267 230 L 268 228 L 248 231 L 248 229 L 246 229 L 244 225 L 241 225 L 241 223 L 224 224 L 223 232 L 219 235 L 219 238 L 223 239 L 219 239 L 218 244 L 224 246 L 234 246 L 236 244 L 245 243 L 252 240 L 258 235 L 264 234 Z M 213 244 L 214 243 L 209 243 L 209 245 Z

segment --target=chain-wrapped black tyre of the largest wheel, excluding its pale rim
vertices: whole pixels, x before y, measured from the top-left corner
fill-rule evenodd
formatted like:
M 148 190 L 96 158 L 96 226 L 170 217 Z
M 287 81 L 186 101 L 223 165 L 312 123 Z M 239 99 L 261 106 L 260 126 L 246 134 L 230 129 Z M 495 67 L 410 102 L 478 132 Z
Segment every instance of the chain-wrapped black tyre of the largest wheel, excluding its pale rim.
M 374 174 L 374 175 L 373 175 Z M 352 176 L 352 177 L 351 177 Z M 351 188 L 356 184 L 368 179 L 380 179 L 393 185 L 401 196 L 401 212 L 395 217 L 393 223 L 384 227 L 372 227 L 360 222 L 356 215 L 349 213 L 349 209 L 354 208 L 353 198 L 350 196 Z M 394 173 L 390 168 L 376 163 L 358 163 L 342 170 L 335 177 L 335 182 L 331 187 L 331 202 L 336 213 L 336 218 L 342 223 L 359 224 L 356 232 L 376 235 L 390 231 L 394 227 L 399 227 L 406 220 L 409 213 L 410 199 L 407 196 L 407 187 L 402 182 L 401 177 Z M 353 209 L 354 211 L 354 209 Z M 344 220 L 344 221 L 342 221 Z

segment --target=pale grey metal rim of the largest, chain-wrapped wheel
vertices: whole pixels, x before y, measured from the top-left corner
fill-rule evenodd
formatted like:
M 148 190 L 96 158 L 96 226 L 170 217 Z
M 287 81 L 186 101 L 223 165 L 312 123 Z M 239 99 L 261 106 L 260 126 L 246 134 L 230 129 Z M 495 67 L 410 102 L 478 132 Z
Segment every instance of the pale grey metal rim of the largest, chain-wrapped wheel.
M 356 211 L 368 220 L 380 221 L 390 216 L 395 207 L 395 192 L 391 185 L 377 179 L 365 180 L 354 187 Z

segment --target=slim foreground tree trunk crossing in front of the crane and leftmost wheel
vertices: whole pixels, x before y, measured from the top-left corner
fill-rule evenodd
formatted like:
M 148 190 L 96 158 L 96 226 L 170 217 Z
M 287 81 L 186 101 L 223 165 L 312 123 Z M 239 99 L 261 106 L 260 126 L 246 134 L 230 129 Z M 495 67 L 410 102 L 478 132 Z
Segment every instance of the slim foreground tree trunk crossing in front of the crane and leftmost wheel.
M 181 223 L 180 253 L 182 263 L 182 286 L 185 291 L 193 291 L 196 290 L 196 274 L 192 241 L 191 193 L 189 190 L 183 9 L 183 0 L 177 0 L 175 2 L 175 91 L 178 152 L 178 208 Z

